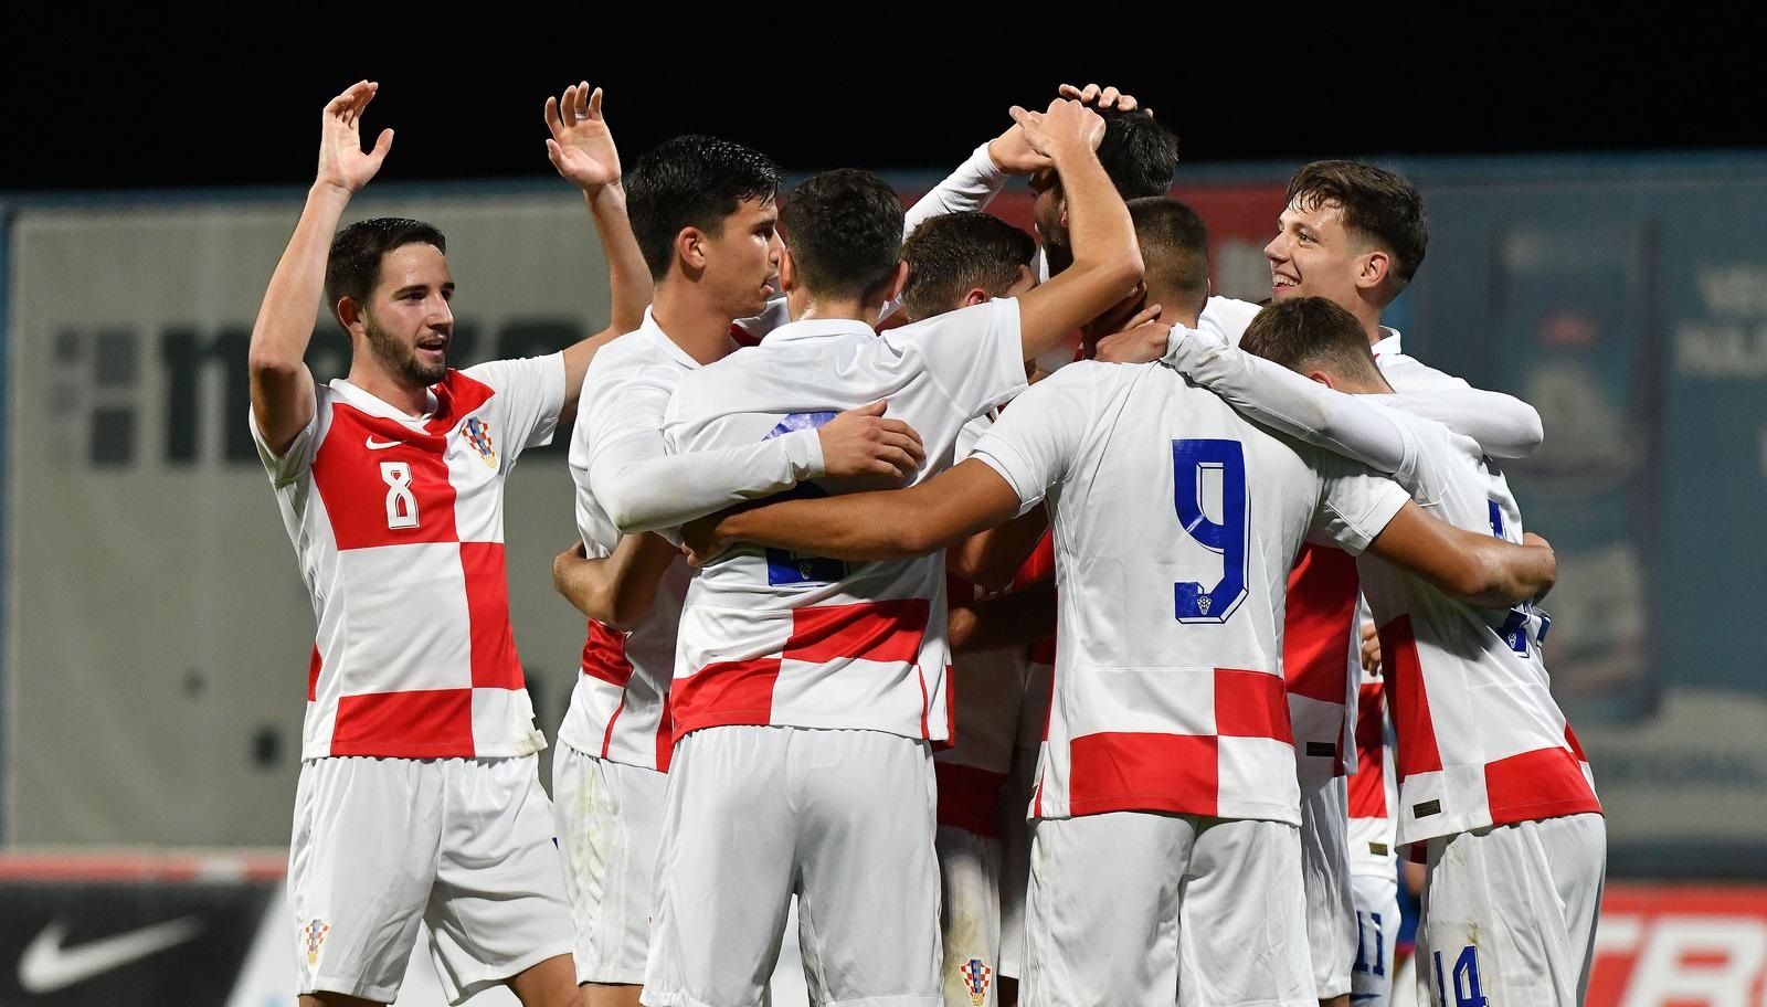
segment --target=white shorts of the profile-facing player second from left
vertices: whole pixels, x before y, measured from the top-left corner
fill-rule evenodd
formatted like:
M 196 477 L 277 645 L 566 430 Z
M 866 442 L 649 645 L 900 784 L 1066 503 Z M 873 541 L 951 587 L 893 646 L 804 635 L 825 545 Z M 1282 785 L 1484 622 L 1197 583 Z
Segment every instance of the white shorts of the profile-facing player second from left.
M 666 795 L 668 776 L 654 768 L 601 760 L 569 742 L 553 751 L 578 982 L 645 980 Z

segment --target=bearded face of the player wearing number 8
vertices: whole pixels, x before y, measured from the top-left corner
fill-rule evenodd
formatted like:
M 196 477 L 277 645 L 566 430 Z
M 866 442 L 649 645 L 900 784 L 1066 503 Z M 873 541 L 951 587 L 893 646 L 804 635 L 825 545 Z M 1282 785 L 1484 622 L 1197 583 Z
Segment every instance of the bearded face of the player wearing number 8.
M 454 279 L 447 256 L 429 244 L 399 246 L 380 256 L 380 284 L 362 306 L 368 348 L 389 375 L 429 387 L 447 375 L 454 336 Z

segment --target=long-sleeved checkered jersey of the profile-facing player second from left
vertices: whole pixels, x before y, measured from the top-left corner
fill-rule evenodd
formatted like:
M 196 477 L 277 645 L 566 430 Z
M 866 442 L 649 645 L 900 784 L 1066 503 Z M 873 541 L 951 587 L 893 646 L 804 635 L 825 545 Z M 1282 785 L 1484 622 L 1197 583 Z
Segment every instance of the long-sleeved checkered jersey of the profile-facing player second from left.
M 657 505 L 641 496 L 657 486 L 675 486 L 666 509 L 710 511 L 746 491 L 770 493 L 792 486 L 797 475 L 820 472 L 815 433 L 779 438 L 770 450 L 726 452 L 687 470 L 687 459 L 668 458 L 663 413 L 682 375 L 700 364 L 663 332 L 650 309 L 643 323 L 603 346 L 590 360 L 571 429 L 571 479 L 576 484 L 576 528 L 590 556 L 608 556 L 620 530 L 608 512 L 608 496 L 626 496 L 624 509 L 652 514 Z M 656 470 L 670 468 L 670 473 Z M 811 468 L 815 466 L 815 468 Z M 686 470 L 686 472 L 684 472 Z M 558 737 L 597 758 L 668 772 L 668 684 L 675 673 L 675 627 L 687 595 L 686 562 L 664 574 L 650 611 L 629 632 L 588 620 L 580 675 L 571 691 Z

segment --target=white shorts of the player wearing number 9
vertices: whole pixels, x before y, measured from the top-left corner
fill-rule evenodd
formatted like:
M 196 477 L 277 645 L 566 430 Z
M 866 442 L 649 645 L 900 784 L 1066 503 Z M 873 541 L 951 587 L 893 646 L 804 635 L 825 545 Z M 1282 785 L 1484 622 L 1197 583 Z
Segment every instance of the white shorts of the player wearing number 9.
M 1301 848 L 1283 822 L 1044 818 L 1030 853 L 1027 1007 L 1316 1007 Z

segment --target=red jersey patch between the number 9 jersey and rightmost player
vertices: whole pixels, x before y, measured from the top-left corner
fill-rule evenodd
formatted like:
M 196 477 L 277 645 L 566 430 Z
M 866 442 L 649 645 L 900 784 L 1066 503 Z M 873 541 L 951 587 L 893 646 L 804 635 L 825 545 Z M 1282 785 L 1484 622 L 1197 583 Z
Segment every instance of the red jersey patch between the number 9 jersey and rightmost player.
M 1283 673 L 1295 696 L 1339 707 L 1348 696 L 1359 583 L 1350 553 L 1311 542 L 1301 548 L 1283 615 Z

